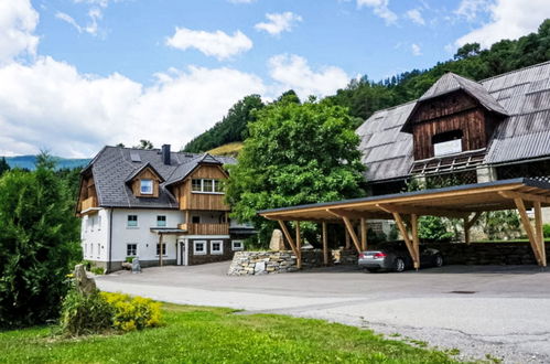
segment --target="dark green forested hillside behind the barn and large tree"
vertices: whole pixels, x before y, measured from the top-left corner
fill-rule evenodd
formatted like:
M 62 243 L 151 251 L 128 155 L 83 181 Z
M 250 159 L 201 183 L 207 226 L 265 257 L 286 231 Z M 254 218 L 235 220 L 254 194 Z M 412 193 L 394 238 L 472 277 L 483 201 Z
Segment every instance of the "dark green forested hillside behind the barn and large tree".
M 412 69 L 380 82 L 371 81 L 365 75 L 359 79 L 352 79 L 346 88 L 338 89 L 336 95 L 326 99 L 334 105 L 347 107 L 357 127 L 376 110 L 420 97 L 446 72 L 479 81 L 549 60 L 550 19 L 547 19 L 537 33 L 516 41 L 503 40 L 488 50 L 482 50 L 477 43 L 465 44 L 453 60 L 438 63 L 429 69 Z M 245 97 L 231 107 L 222 121 L 190 141 L 184 151 L 204 152 L 246 139 L 246 126 L 255 120 L 254 110 L 263 106 L 258 95 Z

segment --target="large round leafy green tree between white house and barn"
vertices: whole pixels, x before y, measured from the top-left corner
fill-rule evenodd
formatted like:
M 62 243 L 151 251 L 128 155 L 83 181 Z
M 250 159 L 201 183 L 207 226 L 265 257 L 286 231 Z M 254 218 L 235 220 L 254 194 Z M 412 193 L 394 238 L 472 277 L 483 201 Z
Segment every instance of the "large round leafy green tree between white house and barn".
M 272 225 L 258 210 L 363 195 L 359 139 L 345 108 L 283 97 L 258 114 L 249 132 L 229 167 L 227 201 L 235 218 L 252 221 L 262 234 Z

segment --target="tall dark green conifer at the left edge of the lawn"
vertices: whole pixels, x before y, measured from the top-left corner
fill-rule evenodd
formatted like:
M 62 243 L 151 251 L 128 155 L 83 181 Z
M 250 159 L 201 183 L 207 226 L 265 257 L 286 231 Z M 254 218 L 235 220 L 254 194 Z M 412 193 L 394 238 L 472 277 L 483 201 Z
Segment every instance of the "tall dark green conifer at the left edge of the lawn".
M 79 256 L 78 221 L 67 185 L 47 154 L 36 170 L 0 179 L 0 326 L 58 314 L 66 275 Z

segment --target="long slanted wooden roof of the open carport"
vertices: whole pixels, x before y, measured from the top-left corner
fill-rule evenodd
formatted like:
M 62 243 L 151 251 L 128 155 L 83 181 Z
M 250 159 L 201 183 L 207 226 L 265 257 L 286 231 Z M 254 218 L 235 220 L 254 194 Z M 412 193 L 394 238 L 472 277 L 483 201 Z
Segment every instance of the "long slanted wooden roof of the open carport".
M 393 213 L 465 218 L 471 213 L 514 210 L 515 199 L 550 206 L 550 183 L 531 179 L 502 180 L 364 199 L 259 211 L 269 220 L 341 222 L 348 218 L 388 218 Z

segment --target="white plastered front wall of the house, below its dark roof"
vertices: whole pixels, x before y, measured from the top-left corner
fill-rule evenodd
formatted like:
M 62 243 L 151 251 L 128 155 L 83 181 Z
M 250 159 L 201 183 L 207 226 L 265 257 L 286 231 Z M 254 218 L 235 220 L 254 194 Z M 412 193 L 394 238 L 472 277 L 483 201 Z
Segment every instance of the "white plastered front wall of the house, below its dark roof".
M 138 226 L 128 226 L 128 215 L 138 215 Z M 166 216 L 166 227 L 177 227 L 183 223 L 184 214 L 174 210 L 128 210 L 115 208 L 112 213 L 112 253 L 111 261 L 123 261 L 127 257 L 127 244 L 138 245 L 140 260 L 158 260 L 157 244 L 159 235 L 150 231 L 157 227 L 157 216 Z M 175 236 L 164 235 L 166 255 L 163 259 L 175 259 Z

